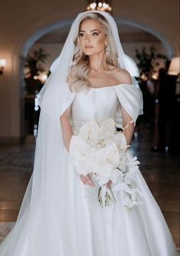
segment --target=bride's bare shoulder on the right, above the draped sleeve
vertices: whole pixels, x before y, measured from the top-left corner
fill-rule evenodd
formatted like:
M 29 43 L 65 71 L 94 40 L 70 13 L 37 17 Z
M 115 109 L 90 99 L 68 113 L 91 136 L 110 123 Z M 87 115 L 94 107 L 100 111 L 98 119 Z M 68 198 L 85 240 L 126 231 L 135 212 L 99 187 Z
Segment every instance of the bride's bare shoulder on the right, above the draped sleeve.
M 132 84 L 132 78 L 128 71 L 124 68 L 114 68 L 114 77 L 118 84 Z

